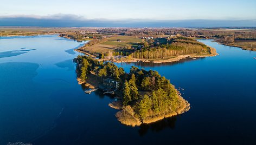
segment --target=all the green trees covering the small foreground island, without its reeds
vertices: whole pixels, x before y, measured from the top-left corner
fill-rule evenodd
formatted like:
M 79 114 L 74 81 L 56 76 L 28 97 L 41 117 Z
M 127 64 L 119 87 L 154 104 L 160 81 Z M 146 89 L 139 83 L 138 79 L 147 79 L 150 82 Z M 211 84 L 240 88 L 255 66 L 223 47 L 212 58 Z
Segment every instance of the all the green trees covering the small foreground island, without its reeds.
M 129 74 L 111 62 L 99 62 L 88 56 L 78 56 L 78 75 L 86 80 L 89 73 L 98 78 L 112 78 L 119 82 L 117 95 L 120 95 L 123 108 L 134 110 L 140 120 L 147 117 L 175 111 L 178 107 L 178 94 L 174 85 L 157 71 L 131 67 Z M 120 92 L 120 94 L 118 94 Z

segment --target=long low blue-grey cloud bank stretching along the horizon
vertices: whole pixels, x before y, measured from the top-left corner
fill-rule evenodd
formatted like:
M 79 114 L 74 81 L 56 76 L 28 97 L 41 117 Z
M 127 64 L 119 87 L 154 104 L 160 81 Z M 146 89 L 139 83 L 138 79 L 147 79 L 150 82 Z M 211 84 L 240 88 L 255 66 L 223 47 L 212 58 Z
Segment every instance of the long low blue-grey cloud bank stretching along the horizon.
M 256 20 L 87 19 L 73 14 L 0 16 L 0 26 L 27 27 L 256 27 Z

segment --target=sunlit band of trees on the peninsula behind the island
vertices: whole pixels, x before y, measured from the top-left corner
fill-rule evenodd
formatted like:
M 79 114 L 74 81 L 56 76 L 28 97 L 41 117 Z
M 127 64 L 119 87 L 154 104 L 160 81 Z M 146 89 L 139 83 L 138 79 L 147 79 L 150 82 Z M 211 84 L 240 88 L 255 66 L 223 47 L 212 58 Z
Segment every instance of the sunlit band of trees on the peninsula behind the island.
M 139 59 L 163 59 L 177 55 L 208 54 L 209 48 L 203 43 L 190 38 L 176 38 L 170 41 L 171 44 L 161 44 L 157 47 L 143 48 L 131 54 L 133 58 Z

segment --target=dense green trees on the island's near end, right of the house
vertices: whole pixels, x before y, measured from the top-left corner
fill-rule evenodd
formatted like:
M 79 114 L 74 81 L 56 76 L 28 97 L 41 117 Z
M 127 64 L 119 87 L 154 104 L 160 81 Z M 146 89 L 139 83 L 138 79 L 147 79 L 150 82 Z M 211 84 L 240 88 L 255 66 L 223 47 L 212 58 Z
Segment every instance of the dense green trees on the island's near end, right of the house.
M 144 92 L 144 95 L 138 91 Z M 175 111 L 177 97 L 174 85 L 157 71 L 131 67 L 123 87 L 123 104 L 135 108 L 142 120 Z

